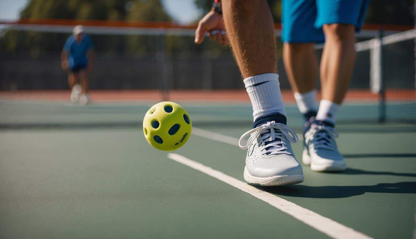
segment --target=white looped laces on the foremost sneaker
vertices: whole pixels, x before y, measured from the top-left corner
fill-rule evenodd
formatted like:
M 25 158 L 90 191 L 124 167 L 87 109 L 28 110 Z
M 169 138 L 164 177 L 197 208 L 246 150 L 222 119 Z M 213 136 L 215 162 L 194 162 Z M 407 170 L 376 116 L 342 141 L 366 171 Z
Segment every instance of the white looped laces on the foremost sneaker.
M 254 132 L 256 133 L 248 138 L 247 144 L 242 145 L 241 141 L 247 137 L 247 135 Z M 269 121 L 245 132 L 241 135 L 238 146 L 240 146 L 241 149 L 247 149 L 255 139 L 257 139 L 262 154 L 290 154 L 290 152 L 286 151 L 286 141 L 289 140 L 292 143 L 296 143 L 298 140 L 297 135 L 292 129 L 285 124 L 276 123 L 275 121 Z

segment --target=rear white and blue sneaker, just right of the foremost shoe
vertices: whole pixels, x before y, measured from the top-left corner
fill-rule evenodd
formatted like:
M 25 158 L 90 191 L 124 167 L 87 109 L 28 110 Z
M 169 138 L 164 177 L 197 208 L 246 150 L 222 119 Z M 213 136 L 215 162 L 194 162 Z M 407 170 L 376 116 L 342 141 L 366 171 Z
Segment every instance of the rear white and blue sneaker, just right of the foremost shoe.
M 313 171 L 339 172 L 347 168 L 335 143 L 338 132 L 331 124 L 312 122 L 304 137 L 302 162 L 310 165 Z

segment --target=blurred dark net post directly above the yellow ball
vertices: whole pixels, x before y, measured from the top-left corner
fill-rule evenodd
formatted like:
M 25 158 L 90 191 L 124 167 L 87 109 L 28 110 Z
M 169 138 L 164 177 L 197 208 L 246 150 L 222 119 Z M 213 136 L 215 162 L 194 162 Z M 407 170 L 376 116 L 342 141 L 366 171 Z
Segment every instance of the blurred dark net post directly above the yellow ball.
M 168 92 L 168 75 L 166 73 L 166 52 L 165 52 L 165 45 L 166 45 L 166 31 L 161 30 L 161 32 L 157 36 L 158 41 L 158 63 L 159 63 L 159 87 L 162 95 L 162 101 L 169 100 L 169 92 Z

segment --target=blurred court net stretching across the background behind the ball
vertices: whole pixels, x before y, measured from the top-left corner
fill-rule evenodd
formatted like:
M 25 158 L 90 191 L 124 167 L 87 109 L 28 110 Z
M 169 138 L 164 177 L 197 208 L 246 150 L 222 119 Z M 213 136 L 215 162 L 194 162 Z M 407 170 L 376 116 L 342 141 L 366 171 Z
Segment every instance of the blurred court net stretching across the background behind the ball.
M 62 46 L 79 23 L 96 51 L 92 104 L 85 107 L 69 102 L 67 73 L 60 68 Z M 230 50 L 210 41 L 194 44 L 194 26 L 23 21 L 1 27 L 2 128 L 134 127 L 161 100 L 188 107 L 196 124 L 252 120 Z M 357 62 L 339 122 L 416 123 L 414 39 L 414 29 L 364 29 L 357 36 Z M 278 68 L 288 115 L 301 122 L 282 60 Z

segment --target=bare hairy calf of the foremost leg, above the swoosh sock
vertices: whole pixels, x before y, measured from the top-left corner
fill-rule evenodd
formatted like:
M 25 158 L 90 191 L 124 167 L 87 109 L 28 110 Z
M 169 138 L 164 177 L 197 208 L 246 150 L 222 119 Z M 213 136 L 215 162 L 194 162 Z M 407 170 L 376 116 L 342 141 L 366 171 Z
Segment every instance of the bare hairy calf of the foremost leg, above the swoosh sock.
M 277 73 L 273 19 L 266 0 L 223 0 L 225 29 L 243 78 Z

